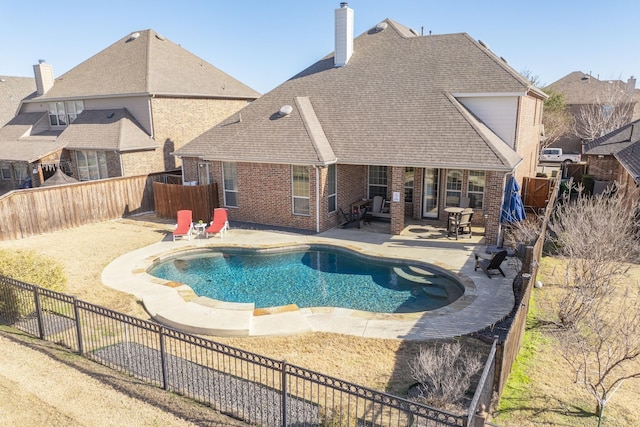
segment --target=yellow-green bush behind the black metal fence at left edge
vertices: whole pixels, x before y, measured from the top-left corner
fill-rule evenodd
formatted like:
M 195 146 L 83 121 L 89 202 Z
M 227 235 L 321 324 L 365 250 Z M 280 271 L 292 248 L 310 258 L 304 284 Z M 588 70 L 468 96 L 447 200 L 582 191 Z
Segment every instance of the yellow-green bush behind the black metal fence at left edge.
M 57 292 L 67 286 L 62 264 L 31 250 L 0 250 L 0 275 Z

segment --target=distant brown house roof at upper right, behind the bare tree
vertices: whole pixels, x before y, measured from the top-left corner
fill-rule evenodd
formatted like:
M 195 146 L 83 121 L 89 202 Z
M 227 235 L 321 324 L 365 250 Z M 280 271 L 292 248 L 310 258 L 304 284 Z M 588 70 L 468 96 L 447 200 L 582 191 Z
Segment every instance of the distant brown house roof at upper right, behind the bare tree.
M 585 74 L 581 71 L 574 71 L 567 74 L 560 80 L 548 85 L 545 90 L 562 93 L 564 102 L 567 105 L 593 104 L 598 100 L 612 99 L 612 90 L 616 91 L 613 99 L 626 102 L 635 102 L 635 98 L 626 92 L 626 83 L 621 81 L 598 80 L 597 78 Z M 619 102 L 619 101 L 618 101 Z

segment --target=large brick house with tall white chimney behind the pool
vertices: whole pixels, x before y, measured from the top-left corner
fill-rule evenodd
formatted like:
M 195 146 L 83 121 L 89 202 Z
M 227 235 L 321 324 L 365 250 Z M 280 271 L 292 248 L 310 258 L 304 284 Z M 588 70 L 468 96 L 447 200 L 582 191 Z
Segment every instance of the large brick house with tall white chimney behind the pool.
M 386 19 L 354 39 L 353 10 L 335 18 L 334 53 L 176 150 L 185 179 L 221 183 L 232 220 L 313 232 L 376 195 L 393 234 L 468 198 L 497 241 L 507 177 L 535 175 L 546 95 L 467 34 Z

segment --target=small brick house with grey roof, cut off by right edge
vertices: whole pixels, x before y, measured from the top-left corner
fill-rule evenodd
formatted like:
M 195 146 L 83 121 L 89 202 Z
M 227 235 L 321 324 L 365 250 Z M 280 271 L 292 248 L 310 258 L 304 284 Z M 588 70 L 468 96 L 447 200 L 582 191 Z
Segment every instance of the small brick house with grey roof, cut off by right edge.
M 587 172 L 595 180 L 594 192 L 615 182 L 631 205 L 640 200 L 640 120 L 595 139 L 584 146 Z

